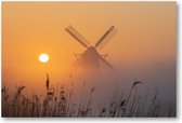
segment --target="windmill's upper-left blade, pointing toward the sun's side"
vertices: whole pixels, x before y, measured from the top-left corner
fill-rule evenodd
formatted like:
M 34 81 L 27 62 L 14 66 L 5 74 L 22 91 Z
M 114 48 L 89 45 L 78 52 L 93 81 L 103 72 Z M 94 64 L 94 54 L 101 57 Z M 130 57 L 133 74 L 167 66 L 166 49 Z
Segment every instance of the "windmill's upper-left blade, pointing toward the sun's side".
M 73 36 L 81 45 L 89 47 L 89 42 L 72 26 L 65 29 L 70 36 Z

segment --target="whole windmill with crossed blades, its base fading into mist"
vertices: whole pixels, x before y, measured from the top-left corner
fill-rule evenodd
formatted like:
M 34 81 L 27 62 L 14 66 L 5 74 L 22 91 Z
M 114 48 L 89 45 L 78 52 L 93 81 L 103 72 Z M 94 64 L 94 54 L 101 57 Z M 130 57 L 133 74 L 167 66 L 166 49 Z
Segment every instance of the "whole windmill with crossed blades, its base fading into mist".
M 98 71 L 100 69 L 101 63 L 104 63 L 110 69 L 114 69 L 112 64 L 105 59 L 107 55 L 99 54 L 99 51 L 101 51 L 117 32 L 117 29 L 114 26 L 110 26 L 94 45 L 90 45 L 90 43 L 74 27 L 68 26 L 65 30 L 83 47 L 86 47 L 86 51 L 82 54 L 75 54 L 76 56 L 79 56 L 77 57 L 76 62 L 77 66 L 81 67 L 82 69 L 89 69 L 90 71 Z

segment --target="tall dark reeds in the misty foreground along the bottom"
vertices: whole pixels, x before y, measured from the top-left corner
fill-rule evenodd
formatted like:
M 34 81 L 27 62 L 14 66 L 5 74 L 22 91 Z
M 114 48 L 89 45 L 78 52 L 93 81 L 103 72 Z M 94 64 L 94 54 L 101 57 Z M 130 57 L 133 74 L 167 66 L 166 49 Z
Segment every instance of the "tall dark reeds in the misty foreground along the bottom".
M 108 106 L 100 107 L 98 112 L 93 109 L 93 94 L 95 87 L 91 87 L 88 95 L 80 95 L 79 102 L 74 100 L 74 80 L 70 77 L 70 85 L 50 86 L 50 79 L 47 74 L 46 96 L 31 94 L 26 97 L 23 92 L 26 86 L 16 86 L 13 95 L 9 94 L 8 87 L 3 86 L 2 94 L 2 117 L 63 117 L 63 118 L 128 118 L 128 117 L 176 117 L 176 104 L 169 102 L 162 109 L 159 98 L 159 90 L 151 95 L 139 95 L 138 90 L 143 84 L 141 81 L 132 83 L 129 94 L 125 97 L 117 92 L 113 93 L 113 99 Z M 86 93 L 83 83 L 82 94 Z M 118 99 L 119 98 L 119 99 Z

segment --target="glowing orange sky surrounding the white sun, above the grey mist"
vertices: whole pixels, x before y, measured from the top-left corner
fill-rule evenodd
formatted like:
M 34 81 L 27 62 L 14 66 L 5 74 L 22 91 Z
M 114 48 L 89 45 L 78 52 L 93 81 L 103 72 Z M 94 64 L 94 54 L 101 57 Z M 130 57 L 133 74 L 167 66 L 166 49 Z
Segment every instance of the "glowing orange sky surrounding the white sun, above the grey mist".
M 114 25 L 118 33 L 101 51 L 116 68 L 176 64 L 174 2 L 2 2 L 2 82 L 58 82 L 84 47 L 64 29 L 72 25 L 94 44 Z M 48 64 L 38 60 L 50 55 Z M 41 83 L 40 83 L 41 82 Z

